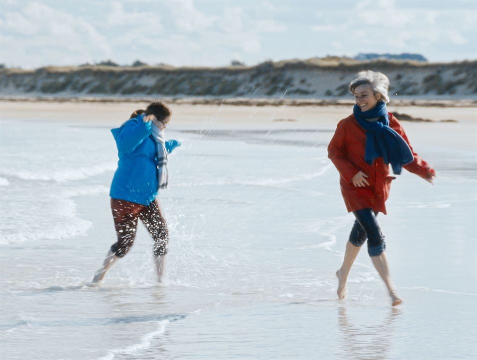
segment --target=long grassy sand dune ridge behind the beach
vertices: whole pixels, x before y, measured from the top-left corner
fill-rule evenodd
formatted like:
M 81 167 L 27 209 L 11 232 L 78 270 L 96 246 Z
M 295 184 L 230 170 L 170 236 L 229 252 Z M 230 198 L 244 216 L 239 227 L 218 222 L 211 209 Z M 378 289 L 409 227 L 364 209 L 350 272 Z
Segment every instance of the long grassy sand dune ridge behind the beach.
M 336 98 L 364 69 L 382 71 L 393 95 L 477 97 L 477 60 L 451 63 L 329 56 L 256 66 L 62 66 L 0 69 L 0 94 L 24 96 L 196 96 Z

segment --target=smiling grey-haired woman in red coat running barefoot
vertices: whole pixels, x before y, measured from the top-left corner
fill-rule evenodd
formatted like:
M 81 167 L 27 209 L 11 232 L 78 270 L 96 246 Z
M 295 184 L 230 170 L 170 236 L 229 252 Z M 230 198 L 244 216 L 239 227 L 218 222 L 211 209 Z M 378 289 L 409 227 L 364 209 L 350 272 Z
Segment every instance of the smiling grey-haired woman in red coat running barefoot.
M 328 157 L 340 173 L 341 193 L 348 212 L 356 220 L 346 244 L 345 257 L 338 276 L 338 298 L 346 295 L 346 280 L 360 246 L 368 239 L 368 253 L 385 282 L 392 304 L 402 300 L 389 277 L 384 236 L 376 220 L 386 214 L 391 181 L 389 164 L 395 174 L 401 168 L 433 182 L 435 171 L 414 152 L 398 119 L 387 111 L 389 80 L 381 72 L 362 71 L 351 81 L 355 95 L 353 114 L 338 122 L 328 145 Z

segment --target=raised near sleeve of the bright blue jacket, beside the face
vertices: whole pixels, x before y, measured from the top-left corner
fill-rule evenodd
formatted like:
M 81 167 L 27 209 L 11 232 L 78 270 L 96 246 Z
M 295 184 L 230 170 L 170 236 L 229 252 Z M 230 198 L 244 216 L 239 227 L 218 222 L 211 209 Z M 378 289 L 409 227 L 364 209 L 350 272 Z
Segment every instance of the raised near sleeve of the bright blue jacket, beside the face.
M 127 121 L 118 132 L 114 132 L 119 151 L 129 153 L 139 145 L 147 136 L 151 134 L 151 121 L 144 122 L 141 118 L 133 118 Z

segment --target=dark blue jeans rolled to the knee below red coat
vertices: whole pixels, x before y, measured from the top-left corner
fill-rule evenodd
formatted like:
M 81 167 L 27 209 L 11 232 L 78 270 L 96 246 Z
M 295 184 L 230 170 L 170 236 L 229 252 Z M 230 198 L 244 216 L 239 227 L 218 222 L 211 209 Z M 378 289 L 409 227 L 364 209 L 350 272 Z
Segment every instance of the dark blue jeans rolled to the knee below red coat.
M 350 242 L 355 246 L 361 246 L 368 238 L 368 253 L 370 256 L 378 256 L 386 249 L 384 235 L 378 225 L 376 216 L 378 212 L 365 208 L 353 211 L 356 220 L 351 229 Z

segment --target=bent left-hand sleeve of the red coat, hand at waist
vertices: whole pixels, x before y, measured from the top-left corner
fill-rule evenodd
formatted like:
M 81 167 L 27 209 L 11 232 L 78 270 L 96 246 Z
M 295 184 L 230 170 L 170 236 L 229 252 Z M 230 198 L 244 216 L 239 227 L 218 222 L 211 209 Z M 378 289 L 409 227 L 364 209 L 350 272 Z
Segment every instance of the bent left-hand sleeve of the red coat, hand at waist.
M 346 157 L 346 129 L 342 121 L 338 122 L 335 134 L 328 145 L 328 157 L 346 182 L 351 182 L 351 178 L 360 171 Z

